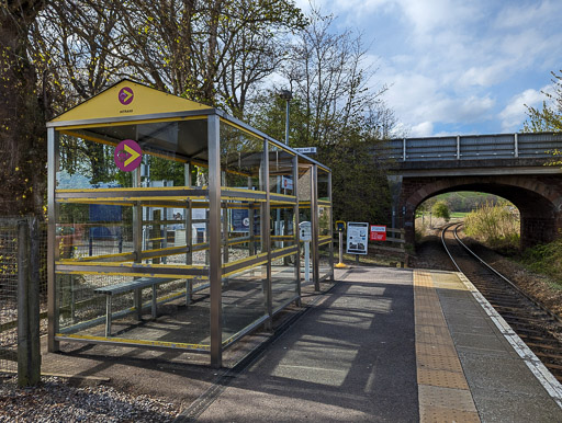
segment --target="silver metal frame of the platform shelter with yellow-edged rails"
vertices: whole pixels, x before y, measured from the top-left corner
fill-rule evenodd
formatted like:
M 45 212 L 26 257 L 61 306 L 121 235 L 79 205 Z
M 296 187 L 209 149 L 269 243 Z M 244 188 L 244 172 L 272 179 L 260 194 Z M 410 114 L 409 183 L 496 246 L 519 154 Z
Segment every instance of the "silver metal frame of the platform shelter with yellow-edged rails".
M 135 90 L 151 90 L 144 85 L 136 84 L 125 80 L 119 84 L 108 89 L 108 92 L 99 95 L 114 94 L 124 84 L 133 85 Z M 154 90 L 155 91 L 155 90 Z M 162 95 L 167 95 L 161 93 Z M 158 94 L 156 94 L 158 95 Z M 94 98 L 95 99 L 95 98 Z M 176 100 L 175 100 L 176 101 Z M 79 111 L 80 105 L 77 106 Z M 85 113 L 91 113 L 90 108 L 86 108 Z M 76 116 L 76 113 L 72 115 Z M 136 130 L 136 125 L 184 123 L 188 121 L 206 121 L 206 160 L 200 158 L 188 157 L 182 153 L 170 153 L 165 148 L 143 148 L 143 153 L 154 157 L 167 158 L 170 160 L 184 163 L 184 186 L 168 187 L 146 187 L 142 186 L 140 170 L 136 169 L 132 172 L 132 186 L 117 188 L 74 188 L 57 190 L 57 173 L 60 170 L 60 146 L 59 137 L 69 136 L 80 139 L 87 139 L 99 144 L 115 146 L 122 139 L 119 138 L 119 130 Z M 178 124 L 179 125 L 179 124 Z M 260 164 L 259 188 L 260 190 L 241 190 L 239 187 L 223 184 L 225 167 L 222 162 L 221 132 L 222 125 L 239 130 L 240 134 L 258 139 L 261 142 L 261 157 L 256 157 Z M 134 126 L 134 128 L 133 128 Z M 115 134 L 97 134 L 97 128 L 104 129 L 110 133 L 115 127 Z M 136 128 L 136 129 L 135 129 Z M 166 130 L 156 127 L 156 130 Z M 100 133 L 100 132 L 99 132 Z M 138 135 L 138 134 L 137 134 Z M 304 156 L 286 145 L 272 139 L 266 134 L 256 130 L 249 125 L 228 116 L 226 113 L 216 108 L 199 107 L 198 110 L 186 110 L 176 112 L 164 112 L 154 114 L 139 114 L 127 116 L 110 116 L 92 118 L 72 118 L 65 119 L 65 114 L 47 124 L 47 141 L 48 141 L 48 348 L 52 352 L 59 350 L 60 341 L 127 345 L 150 348 L 181 348 L 186 351 L 196 351 L 210 353 L 211 364 L 213 366 L 222 365 L 223 351 L 239 340 L 245 334 L 255 330 L 261 324 L 271 324 L 273 316 L 285 308 L 291 302 L 300 304 L 301 300 L 301 242 L 299 240 L 299 220 L 300 211 L 310 207 L 310 217 L 312 222 L 312 264 L 313 264 L 313 283 L 316 290 L 321 289 L 321 282 L 326 278 L 334 278 L 334 260 L 331 243 L 331 175 L 328 168 L 322 163 Z M 259 144 L 259 142 L 258 142 Z M 274 176 L 270 172 L 270 157 L 276 151 L 284 151 L 290 159 L 290 173 L 285 171 L 284 178 L 292 179 L 292 195 L 285 195 L 280 192 L 271 192 L 270 179 L 277 178 L 277 185 L 281 176 Z M 271 156 L 273 155 L 273 156 Z M 205 162 L 206 161 L 206 162 Z M 191 167 L 204 165 L 207 172 L 207 186 L 192 186 Z M 301 198 L 299 194 L 300 169 L 310 171 L 310 198 Z M 327 176 L 327 197 L 318 198 L 318 169 L 325 172 Z M 308 175 L 308 173 L 306 173 Z M 240 176 L 244 174 L 240 173 Z M 248 175 L 250 178 L 250 175 Z M 308 178 L 308 176 L 306 176 Z M 250 184 L 251 185 L 251 184 Z M 61 258 L 60 248 L 58 245 L 58 232 L 60 228 L 60 205 L 61 204 L 79 204 L 79 205 L 117 205 L 131 207 L 132 209 L 132 251 L 120 252 L 110 255 L 83 256 L 83 258 Z M 329 231 L 321 237 L 318 229 L 318 205 L 329 209 L 328 227 Z M 180 207 L 188 211 L 183 222 L 186 224 L 186 244 L 175 247 L 162 247 L 153 249 L 143 248 L 143 207 Z M 206 228 L 207 242 L 193 243 L 192 237 L 192 210 L 196 207 L 207 210 Z M 259 220 L 260 233 L 254 233 L 251 228 L 249 235 L 245 237 L 228 238 L 227 217 L 228 208 L 241 207 L 248 209 L 250 224 L 254 226 L 256 219 Z M 286 219 L 289 228 L 293 228 L 292 235 L 271 235 L 271 211 L 276 208 L 283 209 L 288 214 Z M 279 216 L 279 214 L 278 214 Z M 166 220 L 166 219 L 164 219 Z M 153 218 L 153 224 L 159 225 Z M 277 228 L 283 227 L 279 219 L 274 219 Z M 226 230 L 226 235 L 225 235 Z M 277 229 L 276 229 L 277 230 Z M 289 229 L 285 229 L 289 230 Z M 58 237 L 58 238 L 57 238 Z M 285 242 L 289 244 L 285 245 Z M 228 251 L 232 245 L 249 244 L 254 252 L 248 258 L 241 260 L 228 261 Z M 257 252 L 255 245 L 260 243 L 261 252 Z M 272 248 L 274 245 L 274 248 Z M 328 270 L 321 271 L 319 248 L 324 245 L 329 249 Z M 209 256 L 209 263 L 205 265 L 193 264 L 192 254 L 196 251 L 205 251 Z M 184 264 L 155 264 L 155 260 L 166 258 L 172 254 L 183 254 L 186 256 Z M 286 297 L 276 297 L 273 291 L 273 274 L 272 262 L 282 261 L 293 258 L 294 260 L 294 277 L 295 290 Z M 147 261 L 153 261 L 148 263 Z M 260 318 L 254 320 L 240 331 L 225 338 L 223 331 L 224 307 L 223 293 L 228 277 L 239 274 L 240 272 L 257 272 L 262 268 L 262 287 L 266 302 L 266 312 Z M 206 281 L 209 283 L 209 301 L 210 301 L 210 342 L 209 343 L 183 343 L 160 340 L 128 339 L 126 336 L 101 336 L 97 334 L 80 334 L 83 328 L 98 324 L 101 317 L 90 321 L 83 321 L 77 324 L 70 324 L 68 328 L 60 327 L 61 307 L 61 288 L 57 283 L 57 275 L 119 275 L 124 277 L 170 277 L 170 278 L 191 278 L 198 281 Z M 259 279 L 259 277 L 258 277 Z M 292 286 L 292 285 L 291 285 Z M 154 289 L 153 289 L 154 291 Z M 193 285 L 187 284 L 186 299 L 187 304 L 193 294 Z M 286 293 L 284 293 L 286 294 Z M 162 299 L 173 300 L 177 295 Z M 274 302 L 274 299 L 279 299 Z M 74 299 L 72 299 L 74 301 Z M 135 293 L 135 304 L 139 307 L 139 313 L 143 308 L 143 299 L 140 293 Z M 72 302 L 74 306 L 74 302 Z M 66 311 L 65 311 L 66 312 Z M 110 312 L 110 311 L 108 311 Z M 122 315 L 130 312 L 122 311 Z M 119 315 L 119 316 L 122 316 Z

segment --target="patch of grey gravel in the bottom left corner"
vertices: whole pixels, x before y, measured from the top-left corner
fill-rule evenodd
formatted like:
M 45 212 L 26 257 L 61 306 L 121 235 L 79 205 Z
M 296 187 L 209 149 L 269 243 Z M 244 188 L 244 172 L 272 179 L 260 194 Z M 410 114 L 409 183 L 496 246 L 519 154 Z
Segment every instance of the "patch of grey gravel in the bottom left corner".
M 120 392 L 108 386 L 74 387 L 42 377 L 36 388 L 18 388 L 16 376 L 0 375 L 0 422 L 171 422 L 173 403 Z

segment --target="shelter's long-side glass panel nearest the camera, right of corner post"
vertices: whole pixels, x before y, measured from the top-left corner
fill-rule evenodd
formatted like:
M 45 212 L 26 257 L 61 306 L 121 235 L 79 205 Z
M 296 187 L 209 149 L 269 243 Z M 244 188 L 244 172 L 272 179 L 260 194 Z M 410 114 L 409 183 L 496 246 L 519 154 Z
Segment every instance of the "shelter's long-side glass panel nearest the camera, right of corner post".
M 223 345 L 269 318 L 265 141 L 221 121 Z

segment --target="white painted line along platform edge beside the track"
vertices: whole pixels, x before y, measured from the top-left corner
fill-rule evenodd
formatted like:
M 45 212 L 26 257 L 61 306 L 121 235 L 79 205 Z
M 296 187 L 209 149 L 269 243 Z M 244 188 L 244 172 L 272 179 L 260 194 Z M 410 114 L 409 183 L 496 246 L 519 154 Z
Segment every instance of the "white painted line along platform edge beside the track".
M 482 294 L 480 294 L 472 282 L 470 282 L 463 273 L 457 272 L 457 275 L 459 276 L 459 279 L 461 279 L 461 282 L 464 284 L 464 286 L 472 293 L 484 311 L 486 311 L 487 316 L 492 319 L 497 329 L 499 329 L 499 332 L 502 332 L 507 342 L 509 342 L 517 354 L 519 354 L 527 367 L 529 367 L 529 369 L 543 386 L 547 392 L 549 392 L 552 399 L 557 401 L 557 404 L 562 409 L 562 385 L 560 385 L 557 378 L 552 376 L 549 369 L 535 355 L 535 353 L 529 350 L 529 347 L 525 344 L 525 342 L 522 342 L 519 335 L 514 332 L 512 327 L 507 324 L 504 318 L 498 315 L 498 312 L 494 309 L 494 307 L 492 307 L 487 299 L 485 299 Z

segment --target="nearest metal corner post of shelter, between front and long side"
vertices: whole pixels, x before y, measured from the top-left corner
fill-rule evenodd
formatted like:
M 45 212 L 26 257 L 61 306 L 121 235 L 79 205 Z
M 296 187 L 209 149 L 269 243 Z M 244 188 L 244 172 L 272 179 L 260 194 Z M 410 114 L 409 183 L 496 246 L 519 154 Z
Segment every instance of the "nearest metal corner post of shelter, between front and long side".
M 221 127 L 216 114 L 207 117 L 209 142 L 209 282 L 211 290 L 211 365 L 223 365 L 221 255 Z

